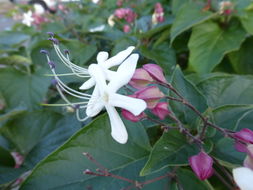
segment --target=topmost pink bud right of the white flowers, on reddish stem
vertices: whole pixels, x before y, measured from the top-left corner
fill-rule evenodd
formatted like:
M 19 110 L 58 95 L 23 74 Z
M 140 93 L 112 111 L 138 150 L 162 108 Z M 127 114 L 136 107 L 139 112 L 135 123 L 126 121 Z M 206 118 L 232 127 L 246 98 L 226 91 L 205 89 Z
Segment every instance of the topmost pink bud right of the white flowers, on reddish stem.
M 151 77 L 162 83 L 167 83 L 164 75 L 163 75 L 163 70 L 160 66 L 156 64 L 145 64 L 143 65 L 143 68 L 151 75 Z

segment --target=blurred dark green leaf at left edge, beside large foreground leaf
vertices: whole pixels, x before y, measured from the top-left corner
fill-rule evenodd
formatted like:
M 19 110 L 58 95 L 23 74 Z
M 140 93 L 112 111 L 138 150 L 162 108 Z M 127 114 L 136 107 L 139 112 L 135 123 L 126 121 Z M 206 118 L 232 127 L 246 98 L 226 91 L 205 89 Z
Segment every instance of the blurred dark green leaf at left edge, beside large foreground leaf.
M 8 138 L 22 154 L 29 153 L 34 146 L 55 129 L 61 115 L 50 111 L 34 111 L 17 115 L 8 121 L 1 133 Z

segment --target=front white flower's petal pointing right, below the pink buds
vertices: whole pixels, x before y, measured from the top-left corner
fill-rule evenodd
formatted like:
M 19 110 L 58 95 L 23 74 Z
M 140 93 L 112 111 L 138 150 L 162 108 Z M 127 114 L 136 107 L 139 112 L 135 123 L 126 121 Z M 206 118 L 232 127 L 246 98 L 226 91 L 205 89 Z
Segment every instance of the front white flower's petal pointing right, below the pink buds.
M 110 94 L 109 104 L 115 107 L 126 109 L 135 116 L 139 115 L 147 108 L 147 104 L 144 100 L 115 93 Z

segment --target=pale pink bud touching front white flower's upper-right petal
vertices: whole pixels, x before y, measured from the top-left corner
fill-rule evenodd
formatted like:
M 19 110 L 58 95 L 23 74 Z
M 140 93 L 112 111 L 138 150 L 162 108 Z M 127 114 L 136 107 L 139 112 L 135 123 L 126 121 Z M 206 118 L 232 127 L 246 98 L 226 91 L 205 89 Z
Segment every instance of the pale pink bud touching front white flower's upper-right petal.
M 152 82 L 152 81 L 153 81 L 153 79 L 148 74 L 148 72 L 146 70 L 140 68 L 140 69 L 135 70 L 135 73 L 134 73 L 131 81 L 129 82 L 129 84 L 136 89 L 142 89 L 145 86 L 147 86 L 148 84 L 150 84 L 150 82 Z

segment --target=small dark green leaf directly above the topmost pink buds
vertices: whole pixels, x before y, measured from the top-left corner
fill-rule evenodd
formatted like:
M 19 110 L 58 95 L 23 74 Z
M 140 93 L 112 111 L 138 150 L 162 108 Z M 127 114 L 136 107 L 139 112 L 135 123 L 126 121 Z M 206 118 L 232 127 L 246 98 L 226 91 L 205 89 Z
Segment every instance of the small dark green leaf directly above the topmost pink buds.
M 176 54 L 168 43 L 162 43 L 153 48 L 141 46 L 140 51 L 143 56 L 160 65 L 165 74 L 171 75 L 176 65 Z

